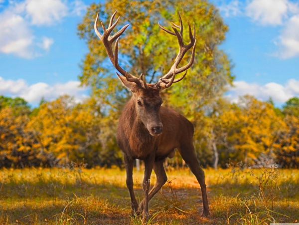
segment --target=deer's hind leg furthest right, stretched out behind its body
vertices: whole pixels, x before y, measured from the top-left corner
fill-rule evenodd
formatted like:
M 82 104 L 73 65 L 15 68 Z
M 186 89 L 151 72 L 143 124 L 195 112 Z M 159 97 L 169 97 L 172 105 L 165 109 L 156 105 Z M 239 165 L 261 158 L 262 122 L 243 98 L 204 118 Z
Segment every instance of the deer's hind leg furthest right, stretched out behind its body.
M 178 151 L 182 156 L 183 160 L 189 166 L 192 173 L 195 175 L 200 185 L 202 202 L 203 202 L 202 217 L 207 217 L 210 214 L 210 210 L 209 210 L 206 184 L 204 179 L 204 171 L 199 166 L 192 141 L 182 144 L 180 148 L 178 148 Z

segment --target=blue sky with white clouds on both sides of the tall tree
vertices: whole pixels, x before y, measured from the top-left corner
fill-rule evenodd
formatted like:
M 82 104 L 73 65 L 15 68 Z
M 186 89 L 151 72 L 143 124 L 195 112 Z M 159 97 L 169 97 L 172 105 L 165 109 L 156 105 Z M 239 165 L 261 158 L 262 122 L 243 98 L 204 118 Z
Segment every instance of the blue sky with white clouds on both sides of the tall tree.
M 92 0 L 0 0 L 0 95 L 31 105 L 69 94 L 81 101 L 80 61 L 88 49 L 77 24 Z M 221 48 L 235 65 L 232 101 L 299 97 L 299 2 L 212 0 L 229 26 Z

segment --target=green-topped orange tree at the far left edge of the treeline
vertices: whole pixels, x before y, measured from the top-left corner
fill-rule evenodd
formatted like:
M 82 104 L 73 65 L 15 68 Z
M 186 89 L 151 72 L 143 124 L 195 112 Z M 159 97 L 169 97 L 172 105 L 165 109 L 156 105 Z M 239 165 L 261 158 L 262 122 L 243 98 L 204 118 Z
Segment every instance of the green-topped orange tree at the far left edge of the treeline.
M 55 157 L 40 152 L 34 134 L 26 129 L 29 107 L 21 98 L 0 97 L 0 168 L 54 166 Z

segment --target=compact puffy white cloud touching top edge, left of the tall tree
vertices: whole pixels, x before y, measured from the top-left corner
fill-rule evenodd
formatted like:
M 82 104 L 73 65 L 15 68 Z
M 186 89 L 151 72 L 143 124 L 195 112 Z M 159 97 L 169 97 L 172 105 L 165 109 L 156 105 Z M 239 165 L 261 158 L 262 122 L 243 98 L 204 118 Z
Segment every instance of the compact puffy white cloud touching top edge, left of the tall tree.
M 67 15 L 68 8 L 61 0 L 26 0 L 26 16 L 31 24 L 51 25 Z

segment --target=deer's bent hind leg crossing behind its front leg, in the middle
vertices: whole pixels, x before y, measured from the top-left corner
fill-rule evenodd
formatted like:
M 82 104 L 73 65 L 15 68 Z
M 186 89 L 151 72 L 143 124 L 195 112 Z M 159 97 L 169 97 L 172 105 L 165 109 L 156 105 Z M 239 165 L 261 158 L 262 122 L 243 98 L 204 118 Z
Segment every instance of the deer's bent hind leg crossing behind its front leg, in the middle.
M 153 165 L 153 171 L 157 177 L 156 183 L 152 187 L 152 189 L 149 192 L 149 200 L 152 199 L 152 197 L 161 189 L 161 187 L 166 183 L 167 181 L 167 176 L 165 173 L 164 165 L 163 165 L 164 160 L 160 160 L 154 163 Z M 140 203 L 140 211 L 143 211 L 145 207 L 145 200 L 143 200 Z

